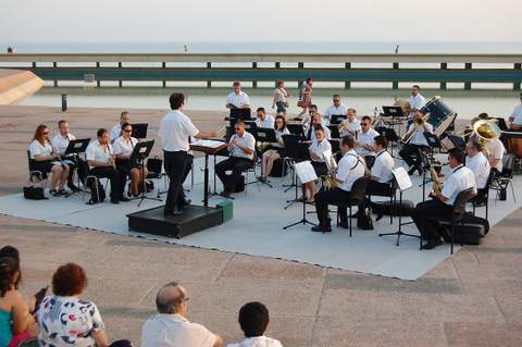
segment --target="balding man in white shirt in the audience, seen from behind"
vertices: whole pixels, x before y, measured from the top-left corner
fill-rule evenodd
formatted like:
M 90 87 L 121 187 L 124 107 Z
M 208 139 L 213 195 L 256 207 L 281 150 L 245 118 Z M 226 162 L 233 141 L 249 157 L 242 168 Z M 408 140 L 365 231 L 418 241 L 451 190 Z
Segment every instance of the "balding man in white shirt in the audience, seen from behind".
M 156 297 L 159 314 L 145 322 L 141 347 L 222 347 L 223 339 L 203 325 L 186 319 L 187 290 L 176 282 L 165 284 Z

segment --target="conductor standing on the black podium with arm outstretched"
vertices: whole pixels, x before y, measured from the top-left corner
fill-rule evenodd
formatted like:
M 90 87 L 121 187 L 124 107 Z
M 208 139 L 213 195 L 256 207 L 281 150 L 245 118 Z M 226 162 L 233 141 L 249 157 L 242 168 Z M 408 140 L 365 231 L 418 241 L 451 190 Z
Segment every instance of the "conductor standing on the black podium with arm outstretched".
M 172 111 L 166 113 L 160 123 L 158 135 L 163 148 L 165 172 L 169 175 L 169 193 L 166 196 L 165 215 L 178 215 L 186 206 L 183 196 L 183 177 L 188 158 L 189 139 L 208 138 L 211 134 L 201 133 L 190 119 L 183 113 L 185 96 L 174 92 L 171 98 Z

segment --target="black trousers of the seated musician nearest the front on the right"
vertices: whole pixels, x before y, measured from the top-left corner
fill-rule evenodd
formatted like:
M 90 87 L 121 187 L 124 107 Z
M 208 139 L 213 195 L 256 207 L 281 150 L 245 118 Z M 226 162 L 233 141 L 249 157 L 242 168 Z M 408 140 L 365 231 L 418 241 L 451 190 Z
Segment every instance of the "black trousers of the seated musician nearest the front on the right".
M 438 199 L 426 200 L 417 205 L 411 219 L 415 223 L 423 239 L 440 239 L 443 227 L 437 221 L 449 221 L 453 213 L 453 207 Z

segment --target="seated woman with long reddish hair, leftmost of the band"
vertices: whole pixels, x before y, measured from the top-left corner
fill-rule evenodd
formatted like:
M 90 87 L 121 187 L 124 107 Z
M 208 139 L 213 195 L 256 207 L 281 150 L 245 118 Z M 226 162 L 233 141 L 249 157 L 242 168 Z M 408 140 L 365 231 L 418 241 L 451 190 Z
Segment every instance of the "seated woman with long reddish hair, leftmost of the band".
M 49 128 L 45 124 L 38 125 L 29 145 L 29 169 L 39 171 L 46 178 L 51 173 L 51 187 L 49 193 L 52 196 L 66 195 L 64 186 L 69 177 L 69 166 L 60 161 L 60 154 L 52 150 L 49 141 Z

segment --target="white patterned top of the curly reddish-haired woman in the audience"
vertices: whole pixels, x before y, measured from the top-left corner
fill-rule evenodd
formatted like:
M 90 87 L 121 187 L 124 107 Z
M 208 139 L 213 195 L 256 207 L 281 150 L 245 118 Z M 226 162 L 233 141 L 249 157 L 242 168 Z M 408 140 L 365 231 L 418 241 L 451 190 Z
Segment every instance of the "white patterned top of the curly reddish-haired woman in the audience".
M 95 347 L 91 334 L 104 329 L 96 305 L 75 297 L 45 297 L 36 320 L 44 347 Z

